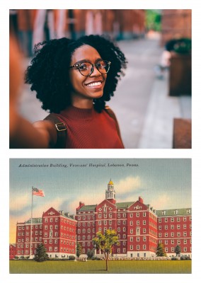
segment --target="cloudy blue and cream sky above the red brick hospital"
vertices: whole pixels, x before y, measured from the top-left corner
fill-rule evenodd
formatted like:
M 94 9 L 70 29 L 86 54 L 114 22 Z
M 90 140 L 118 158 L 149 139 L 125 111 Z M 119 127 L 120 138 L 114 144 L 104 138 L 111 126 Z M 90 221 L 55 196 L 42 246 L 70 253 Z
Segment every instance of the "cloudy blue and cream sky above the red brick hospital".
M 26 166 L 26 167 L 25 167 Z M 16 223 L 50 207 L 76 214 L 79 202 L 98 204 L 105 199 L 110 179 L 117 202 L 137 201 L 154 209 L 191 207 L 190 158 L 11 158 L 10 243 L 15 243 Z

